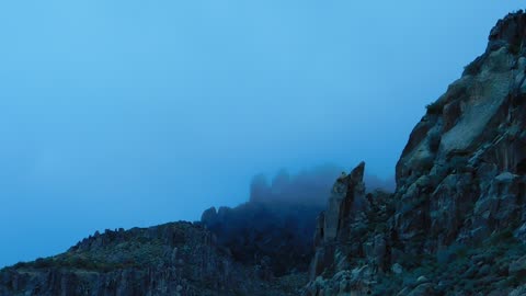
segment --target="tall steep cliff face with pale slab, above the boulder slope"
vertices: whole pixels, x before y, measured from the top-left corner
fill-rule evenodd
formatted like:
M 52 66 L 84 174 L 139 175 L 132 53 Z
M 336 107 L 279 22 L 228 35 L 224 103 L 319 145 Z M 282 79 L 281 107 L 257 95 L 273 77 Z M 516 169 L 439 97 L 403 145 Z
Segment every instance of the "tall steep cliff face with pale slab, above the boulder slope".
M 393 229 L 402 251 L 477 242 L 526 221 L 525 39 L 524 13 L 501 20 L 487 52 L 412 132 L 397 164 Z

